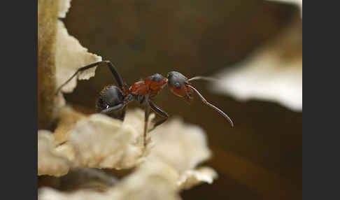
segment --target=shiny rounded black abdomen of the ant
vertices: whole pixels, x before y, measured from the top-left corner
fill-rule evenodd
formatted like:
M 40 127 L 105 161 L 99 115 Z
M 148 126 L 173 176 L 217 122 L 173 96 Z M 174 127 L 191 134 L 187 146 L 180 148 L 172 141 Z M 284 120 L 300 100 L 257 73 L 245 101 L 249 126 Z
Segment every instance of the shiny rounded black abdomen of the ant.
M 125 95 L 122 90 L 115 85 L 108 85 L 99 93 L 97 111 L 117 106 L 118 104 L 123 103 L 124 99 Z

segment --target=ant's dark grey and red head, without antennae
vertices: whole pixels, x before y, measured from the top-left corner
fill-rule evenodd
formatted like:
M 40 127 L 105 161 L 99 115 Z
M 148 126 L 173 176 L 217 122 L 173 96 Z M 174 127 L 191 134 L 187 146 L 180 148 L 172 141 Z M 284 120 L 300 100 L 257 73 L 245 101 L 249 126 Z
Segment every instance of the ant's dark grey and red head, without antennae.
M 167 75 L 169 90 L 178 97 L 183 97 L 187 103 L 192 101 L 192 89 L 189 80 L 182 73 L 171 71 Z

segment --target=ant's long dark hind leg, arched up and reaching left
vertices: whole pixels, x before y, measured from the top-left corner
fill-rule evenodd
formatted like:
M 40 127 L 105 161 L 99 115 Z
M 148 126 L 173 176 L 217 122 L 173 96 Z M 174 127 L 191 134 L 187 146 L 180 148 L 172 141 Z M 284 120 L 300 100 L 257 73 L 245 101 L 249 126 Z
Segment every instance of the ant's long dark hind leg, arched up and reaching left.
M 110 61 L 101 61 L 101 62 L 95 62 L 95 63 L 89 64 L 87 66 L 83 66 L 80 69 L 78 69 L 75 73 L 73 73 L 71 78 L 66 80 L 65 83 L 63 83 L 62 85 L 60 85 L 58 87 L 57 92 L 55 94 L 58 94 L 59 91 L 62 90 L 62 87 L 64 87 L 64 85 L 69 83 L 72 80 L 72 78 L 74 78 L 79 72 L 84 71 L 86 69 L 90 69 L 90 68 L 92 68 L 94 66 L 100 66 L 101 64 L 106 64 L 106 66 L 108 66 L 108 69 L 111 70 L 111 73 L 113 74 L 113 76 L 115 77 L 115 80 L 117 81 L 118 87 L 120 88 L 120 90 L 123 90 L 123 80 L 122 80 L 122 77 L 119 75 L 118 71 L 115 69 L 113 64 Z

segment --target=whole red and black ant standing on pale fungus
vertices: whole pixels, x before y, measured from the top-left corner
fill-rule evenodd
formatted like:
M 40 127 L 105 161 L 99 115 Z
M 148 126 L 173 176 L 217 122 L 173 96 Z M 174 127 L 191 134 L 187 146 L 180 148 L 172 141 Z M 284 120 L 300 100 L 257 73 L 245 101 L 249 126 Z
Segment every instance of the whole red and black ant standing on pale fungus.
M 124 120 L 125 118 L 125 111 L 127 108 L 127 104 L 131 101 L 139 101 L 139 103 L 145 103 L 145 124 L 144 124 L 144 147 L 146 147 L 146 134 L 148 132 L 148 118 L 150 115 L 150 107 L 151 109 L 160 115 L 163 119 L 158 120 L 155 122 L 153 129 L 159 126 L 160 124 L 164 123 L 169 115 L 167 112 L 162 110 L 162 108 L 158 107 L 155 103 L 153 103 L 154 97 L 166 86 L 168 85 L 169 90 L 178 97 L 182 97 L 190 103 L 193 99 L 192 94 L 196 92 L 199 96 L 201 101 L 210 106 L 215 111 L 220 113 L 223 117 L 225 117 L 228 122 L 234 127 L 234 123 L 225 114 L 220 108 L 213 106 L 213 104 L 209 103 L 204 99 L 204 97 L 199 93 L 196 88 L 194 88 L 190 81 L 191 80 L 199 80 L 199 79 L 208 79 L 201 76 L 197 76 L 194 78 L 186 78 L 183 74 L 177 71 L 171 71 L 167 74 L 167 78 L 164 78 L 159 73 L 155 73 L 152 76 L 144 80 L 140 80 L 134 83 L 131 87 L 128 87 L 126 83 L 123 82 L 122 77 L 115 69 L 113 64 L 110 61 L 101 61 L 95 62 L 93 64 L 89 64 L 87 66 L 83 66 L 78 69 L 64 84 L 62 84 L 58 89 L 56 94 L 66 85 L 69 83 L 72 78 L 74 78 L 79 72 L 85 71 L 86 69 L 90 69 L 94 66 L 101 66 L 105 64 L 108 66 L 108 69 L 111 70 L 115 80 L 117 82 L 117 86 L 115 85 L 108 85 L 104 87 L 103 90 L 99 93 L 99 98 L 97 101 L 96 110 L 99 113 L 109 115 L 111 117 L 118 118 L 119 120 Z M 120 114 L 118 114 L 118 110 L 122 110 Z

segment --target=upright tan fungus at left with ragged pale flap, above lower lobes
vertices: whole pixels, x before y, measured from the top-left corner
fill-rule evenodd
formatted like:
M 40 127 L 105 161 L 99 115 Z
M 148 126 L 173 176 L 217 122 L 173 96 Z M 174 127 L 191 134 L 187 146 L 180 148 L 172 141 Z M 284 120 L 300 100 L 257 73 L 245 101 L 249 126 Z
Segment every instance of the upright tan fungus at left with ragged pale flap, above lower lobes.
M 66 16 L 69 7 L 70 0 L 38 1 L 38 129 L 49 129 L 65 104 L 62 94 L 55 95 L 57 85 L 79 66 L 101 61 L 70 36 L 58 19 Z M 84 71 L 78 78 L 89 79 L 94 71 Z M 75 87 L 73 80 L 63 92 L 72 92 Z

